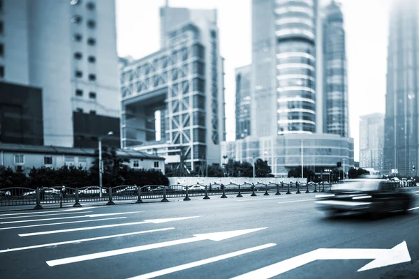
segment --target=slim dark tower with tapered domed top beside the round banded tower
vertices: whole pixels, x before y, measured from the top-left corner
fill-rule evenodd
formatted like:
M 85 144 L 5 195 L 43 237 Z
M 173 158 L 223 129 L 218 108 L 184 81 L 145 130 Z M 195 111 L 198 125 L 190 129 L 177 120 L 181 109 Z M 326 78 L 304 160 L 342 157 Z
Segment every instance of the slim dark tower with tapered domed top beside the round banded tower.
M 349 136 L 344 15 L 332 0 L 323 18 L 323 133 Z

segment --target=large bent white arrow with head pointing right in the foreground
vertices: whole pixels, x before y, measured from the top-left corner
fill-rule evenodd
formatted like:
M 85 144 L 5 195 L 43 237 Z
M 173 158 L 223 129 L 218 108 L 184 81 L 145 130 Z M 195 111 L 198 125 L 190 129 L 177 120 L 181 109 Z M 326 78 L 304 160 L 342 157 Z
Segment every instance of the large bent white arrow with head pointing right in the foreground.
M 244 278 L 272 278 L 279 274 L 291 271 L 297 267 L 304 266 L 318 259 L 374 259 L 374 261 L 363 266 L 358 271 L 366 271 L 368 269 L 376 269 L 378 267 L 390 266 L 392 264 L 400 264 L 402 262 L 410 262 L 411 257 L 407 249 L 406 242 L 403 241 L 392 249 L 317 249 L 291 259 L 286 259 L 262 269 L 245 273 L 233 279 Z

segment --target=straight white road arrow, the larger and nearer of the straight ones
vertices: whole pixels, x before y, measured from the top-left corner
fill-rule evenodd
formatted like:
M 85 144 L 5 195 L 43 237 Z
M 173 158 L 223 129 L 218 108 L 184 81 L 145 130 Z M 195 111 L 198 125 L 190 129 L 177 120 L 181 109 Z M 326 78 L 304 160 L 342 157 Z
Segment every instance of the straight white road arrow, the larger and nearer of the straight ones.
M 154 243 L 149 245 L 143 245 L 143 246 L 135 246 L 130 248 L 123 248 L 118 250 L 110 250 L 105 252 L 97 252 L 93 254 L 88 255 L 82 255 L 82 256 L 76 256 L 76 257 L 66 257 L 64 259 L 54 259 L 52 261 L 47 261 L 47 264 L 49 266 L 59 266 L 61 264 L 71 264 L 74 262 L 83 262 L 88 261 L 90 259 L 101 259 L 103 257 L 111 257 L 111 256 L 117 256 L 117 255 L 124 255 L 131 252 L 140 252 L 144 250 L 151 250 L 156 248 L 163 248 L 168 246 L 175 246 L 179 244 L 186 244 L 186 243 L 192 243 L 196 241 L 203 241 L 203 240 L 212 240 L 212 241 L 221 241 L 224 239 L 229 239 L 230 237 L 240 236 L 242 234 L 249 234 L 251 232 L 256 232 L 260 229 L 266 229 L 258 228 L 258 229 L 242 229 L 238 231 L 232 231 L 232 232 L 214 232 L 212 234 L 195 234 L 194 237 L 190 237 L 188 239 L 178 239 L 174 241 L 165 241 L 161 243 Z

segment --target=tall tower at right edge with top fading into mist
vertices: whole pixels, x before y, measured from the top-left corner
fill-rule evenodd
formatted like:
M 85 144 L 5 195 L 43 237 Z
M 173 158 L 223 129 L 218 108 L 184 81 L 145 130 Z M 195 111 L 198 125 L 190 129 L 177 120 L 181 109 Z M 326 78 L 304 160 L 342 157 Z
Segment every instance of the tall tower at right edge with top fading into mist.
M 419 165 L 418 1 L 394 1 L 388 36 L 384 172 L 416 174 Z

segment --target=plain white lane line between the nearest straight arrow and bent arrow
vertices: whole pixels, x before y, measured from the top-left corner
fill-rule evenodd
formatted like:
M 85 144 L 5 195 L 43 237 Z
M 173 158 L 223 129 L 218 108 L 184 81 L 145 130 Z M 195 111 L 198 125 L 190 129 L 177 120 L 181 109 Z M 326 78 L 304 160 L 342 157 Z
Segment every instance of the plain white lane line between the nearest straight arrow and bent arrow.
M 224 254 L 224 255 L 220 255 L 220 256 L 216 256 L 216 257 L 210 257 L 209 259 L 202 259 L 200 261 L 191 262 L 189 264 L 182 264 L 180 266 L 173 266 L 173 267 L 170 267 L 169 269 L 162 269 L 161 271 L 154 271 L 154 272 L 143 274 L 143 275 L 140 275 L 140 276 L 135 276 L 135 277 L 132 277 L 130 279 L 155 278 L 155 277 L 158 277 L 158 276 L 163 276 L 163 275 L 174 273 L 174 272 L 177 272 L 177 271 L 182 271 L 182 270 L 185 270 L 185 269 L 191 269 L 191 268 L 196 267 L 196 266 L 202 266 L 204 264 L 210 264 L 212 262 L 218 262 L 218 261 L 221 261 L 223 259 L 228 259 L 230 257 L 237 257 L 237 256 L 240 256 L 240 255 L 247 254 L 249 252 L 255 252 L 255 251 L 258 251 L 258 250 L 263 250 L 263 249 L 270 248 L 270 247 L 276 246 L 276 245 L 277 244 L 275 244 L 275 243 L 268 243 L 268 244 L 265 244 L 265 245 L 256 246 L 256 247 L 252 247 L 252 248 L 247 248 L 247 249 L 239 250 L 239 251 L 236 251 L 236 252 L 230 252 L 228 254 Z

